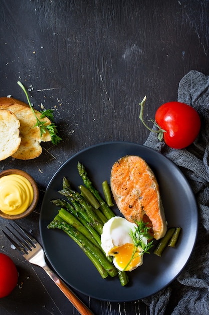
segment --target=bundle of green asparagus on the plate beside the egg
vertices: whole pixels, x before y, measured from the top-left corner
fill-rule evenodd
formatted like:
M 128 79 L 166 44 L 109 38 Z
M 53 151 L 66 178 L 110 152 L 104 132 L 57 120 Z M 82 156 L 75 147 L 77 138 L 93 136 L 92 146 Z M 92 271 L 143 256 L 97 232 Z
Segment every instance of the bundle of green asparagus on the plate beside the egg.
M 101 248 L 103 225 L 115 214 L 92 184 L 84 165 L 78 162 L 77 168 L 85 186 L 79 186 L 79 193 L 71 189 L 66 177 L 63 178 L 59 193 L 65 199 L 52 200 L 60 209 L 48 228 L 66 232 L 92 261 L 102 278 L 118 275 L 124 286 L 128 283 L 127 273 L 115 268 L 112 257 L 106 257 Z

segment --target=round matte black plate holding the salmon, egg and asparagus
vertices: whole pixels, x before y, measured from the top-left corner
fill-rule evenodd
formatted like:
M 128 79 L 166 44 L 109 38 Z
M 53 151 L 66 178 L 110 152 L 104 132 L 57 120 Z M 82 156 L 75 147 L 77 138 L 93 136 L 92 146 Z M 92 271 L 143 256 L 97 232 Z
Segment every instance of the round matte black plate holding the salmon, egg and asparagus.
M 92 262 L 67 234 L 48 229 L 58 213 L 51 203 L 62 197 L 62 178 L 73 187 L 82 183 L 77 171 L 78 161 L 86 167 L 89 177 L 102 192 L 101 183 L 109 181 L 115 161 L 126 154 L 140 155 L 152 168 L 159 183 L 168 226 L 181 226 L 176 248 L 167 248 L 162 257 L 145 254 L 143 265 L 129 273 L 129 284 L 122 287 L 117 277 L 102 279 Z M 116 215 L 119 211 L 113 207 Z M 107 142 L 91 146 L 72 156 L 50 181 L 41 208 L 40 232 L 46 256 L 60 277 L 73 288 L 91 297 L 107 301 L 133 301 L 161 290 L 173 281 L 186 265 L 197 234 L 197 207 L 191 188 L 179 169 L 162 154 L 130 142 Z

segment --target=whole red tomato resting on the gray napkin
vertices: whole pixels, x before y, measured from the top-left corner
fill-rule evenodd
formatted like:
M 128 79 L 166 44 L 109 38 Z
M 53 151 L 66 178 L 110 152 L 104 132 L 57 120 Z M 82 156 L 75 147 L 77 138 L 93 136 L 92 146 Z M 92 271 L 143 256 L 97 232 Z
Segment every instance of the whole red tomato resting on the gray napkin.
M 161 105 L 155 114 L 155 121 L 165 130 L 165 143 L 175 149 L 185 148 L 197 137 L 200 118 L 195 109 L 180 102 L 168 102 Z

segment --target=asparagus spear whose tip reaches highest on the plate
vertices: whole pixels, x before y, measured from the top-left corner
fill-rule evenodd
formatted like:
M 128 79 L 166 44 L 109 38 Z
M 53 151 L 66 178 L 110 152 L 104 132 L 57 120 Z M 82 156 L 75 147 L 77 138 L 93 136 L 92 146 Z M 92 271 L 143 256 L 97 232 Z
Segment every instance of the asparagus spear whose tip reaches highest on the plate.
M 79 175 L 81 176 L 84 184 L 90 190 L 90 192 L 95 196 L 95 198 L 99 201 L 100 208 L 103 211 L 104 215 L 106 216 L 108 220 L 111 219 L 113 216 L 115 216 L 114 212 L 110 209 L 110 207 L 108 207 L 107 203 L 100 196 L 99 191 L 93 186 L 92 182 L 88 178 L 87 172 L 83 164 L 78 162 L 77 168 L 78 168 Z

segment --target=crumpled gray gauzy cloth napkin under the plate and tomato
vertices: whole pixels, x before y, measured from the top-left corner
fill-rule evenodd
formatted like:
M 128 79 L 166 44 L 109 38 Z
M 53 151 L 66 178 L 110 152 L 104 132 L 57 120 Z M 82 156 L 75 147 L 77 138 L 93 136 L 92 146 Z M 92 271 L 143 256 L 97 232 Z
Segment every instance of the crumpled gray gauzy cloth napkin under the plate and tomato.
M 198 138 L 185 149 L 172 149 L 151 132 L 144 145 L 161 152 L 186 176 L 197 200 L 198 235 L 193 253 L 180 275 L 167 288 L 145 298 L 153 315 L 209 314 L 209 75 L 191 70 L 180 81 L 178 101 L 197 110 Z M 186 119 L 186 117 L 185 117 Z

